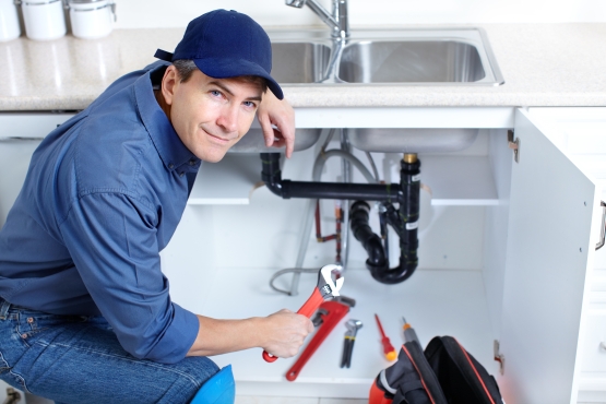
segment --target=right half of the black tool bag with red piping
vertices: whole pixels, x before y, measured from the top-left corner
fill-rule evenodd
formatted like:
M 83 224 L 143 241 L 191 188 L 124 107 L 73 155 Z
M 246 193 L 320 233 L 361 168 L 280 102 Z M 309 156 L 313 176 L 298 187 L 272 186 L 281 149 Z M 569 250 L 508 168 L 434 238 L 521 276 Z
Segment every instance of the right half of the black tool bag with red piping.
M 425 357 L 440 381 L 449 404 L 500 404 L 497 381 L 452 336 L 436 336 Z

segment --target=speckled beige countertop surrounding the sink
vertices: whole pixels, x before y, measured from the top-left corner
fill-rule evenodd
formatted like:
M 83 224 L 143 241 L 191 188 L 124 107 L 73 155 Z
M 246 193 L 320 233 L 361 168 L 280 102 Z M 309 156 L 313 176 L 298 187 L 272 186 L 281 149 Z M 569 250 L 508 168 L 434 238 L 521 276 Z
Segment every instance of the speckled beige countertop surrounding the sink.
M 311 84 L 284 85 L 284 93 L 295 107 L 606 106 L 606 24 L 475 26 L 488 36 L 503 85 Z M 173 50 L 182 33 L 117 29 L 96 40 L 0 43 L 0 110 L 83 109 L 114 80 L 153 62 L 156 48 Z

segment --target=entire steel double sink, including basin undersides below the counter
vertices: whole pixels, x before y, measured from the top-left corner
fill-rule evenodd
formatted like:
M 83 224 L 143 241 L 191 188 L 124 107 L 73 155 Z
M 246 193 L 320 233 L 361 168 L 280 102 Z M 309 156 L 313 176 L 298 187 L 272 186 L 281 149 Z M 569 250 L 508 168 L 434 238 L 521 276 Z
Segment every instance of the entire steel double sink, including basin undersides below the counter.
M 285 86 L 497 86 L 504 83 L 480 28 L 353 29 L 334 40 L 326 29 L 269 31 L 272 75 Z M 295 151 L 313 145 L 321 129 L 298 129 Z M 369 152 L 433 153 L 462 150 L 476 128 L 349 129 L 356 148 Z M 278 152 L 251 129 L 230 152 Z

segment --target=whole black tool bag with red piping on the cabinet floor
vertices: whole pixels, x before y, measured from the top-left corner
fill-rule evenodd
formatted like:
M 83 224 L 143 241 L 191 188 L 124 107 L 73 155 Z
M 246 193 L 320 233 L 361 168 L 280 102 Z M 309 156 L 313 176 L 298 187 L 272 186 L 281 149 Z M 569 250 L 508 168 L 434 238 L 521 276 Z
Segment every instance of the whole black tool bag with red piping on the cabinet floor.
M 397 361 L 381 370 L 369 404 L 502 404 L 495 379 L 451 336 L 437 336 L 423 353 L 402 345 Z

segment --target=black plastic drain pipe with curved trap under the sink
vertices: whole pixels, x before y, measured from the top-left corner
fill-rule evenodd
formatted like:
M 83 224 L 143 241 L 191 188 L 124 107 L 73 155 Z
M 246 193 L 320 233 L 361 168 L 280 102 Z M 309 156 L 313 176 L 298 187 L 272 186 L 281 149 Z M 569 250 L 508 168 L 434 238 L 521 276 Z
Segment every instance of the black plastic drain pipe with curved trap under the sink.
M 405 154 L 401 162 L 400 185 L 305 182 L 282 179 L 277 153 L 261 153 L 261 177 L 268 188 L 278 197 L 372 200 L 381 201 L 382 215 L 400 236 L 400 265 L 390 269 L 381 238 L 368 225 L 370 206 L 358 201 L 350 209 L 352 231 L 368 252 L 367 268 L 372 277 L 384 284 L 407 280 L 415 271 L 418 258 L 418 215 L 420 191 L 420 162 L 416 154 Z M 396 211 L 392 205 L 399 203 Z

